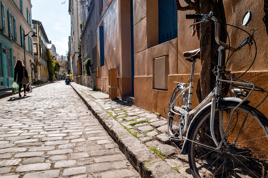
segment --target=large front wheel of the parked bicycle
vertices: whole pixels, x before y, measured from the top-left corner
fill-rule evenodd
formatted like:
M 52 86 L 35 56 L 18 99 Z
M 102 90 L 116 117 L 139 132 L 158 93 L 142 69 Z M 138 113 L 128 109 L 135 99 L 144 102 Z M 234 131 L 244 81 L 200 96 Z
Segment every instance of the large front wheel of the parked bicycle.
M 193 177 L 267 177 L 268 123 L 267 118 L 249 105 L 222 104 L 215 110 L 214 133 L 222 147 L 217 149 L 211 136 L 210 113 L 207 109 L 191 133 L 188 158 Z M 219 117 L 221 114 L 222 117 Z M 222 119 L 219 119 L 222 118 Z

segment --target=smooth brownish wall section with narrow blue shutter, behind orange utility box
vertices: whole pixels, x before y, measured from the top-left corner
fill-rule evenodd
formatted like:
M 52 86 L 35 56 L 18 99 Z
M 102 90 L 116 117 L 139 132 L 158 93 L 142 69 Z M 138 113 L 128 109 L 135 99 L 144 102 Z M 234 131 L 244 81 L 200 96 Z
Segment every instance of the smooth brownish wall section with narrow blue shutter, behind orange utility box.
M 103 1 L 103 10 L 96 28 L 97 88 L 109 93 L 108 69 L 117 69 L 118 97 L 131 94 L 130 3 L 127 0 Z M 97 8 L 98 9 L 98 8 Z M 99 27 L 104 29 L 104 66 L 100 64 Z M 101 80 L 102 88 L 101 88 Z M 130 80 L 130 81 L 129 81 Z

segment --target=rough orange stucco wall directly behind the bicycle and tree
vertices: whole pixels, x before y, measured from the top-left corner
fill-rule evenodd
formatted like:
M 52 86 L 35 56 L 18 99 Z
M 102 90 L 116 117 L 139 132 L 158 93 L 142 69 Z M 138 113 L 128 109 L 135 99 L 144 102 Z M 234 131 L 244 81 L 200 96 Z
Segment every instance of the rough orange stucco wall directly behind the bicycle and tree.
M 176 86 L 173 81 L 181 81 L 188 83 L 191 72 L 191 62 L 185 61 L 182 56 L 184 51 L 194 50 L 199 48 L 199 41 L 197 36 L 192 36 L 192 28 L 188 26 L 193 23 L 193 20 L 185 19 L 185 14 L 194 13 L 194 11 L 178 11 L 178 38 L 170 40 L 162 44 L 151 43 L 151 36 L 157 36 L 155 34 L 154 27 L 151 27 L 148 22 L 152 14 L 158 14 L 158 6 L 154 5 L 152 8 L 148 7 L 146 0 L 133 0 L 133 12 L 134 12 L 134 60 L 135 60 L 135 77 L 134 77 L 134 98 L 135 105 L 148 109 L 152 112 L 158 112 L 163 116 L 164 107 L 169 105 L 169 99 L 172 95 L 173 88 Z M 157 1 L 155 1 L 157 4 Z M 183 4 L 183 1 L 181 1 Z M 244 13 L 247 10 L 252 12 L 252 20 L 248 24 L 251 28 L 255 29 L 255 40 L 258 47 L 258 54 L 256 61 L 251 72 L 245 75 L 248 81 L 255 83 L 257 86 L 263 87 L 266 90 L 268 86 L 266 82 L 263 82 L 268 77 L 268 62 L 266 56 L 268 53 L 267 42 L 268 36 L 266 34 L 265 25 L 262 21 L 264 16 L 263 1 L 251 1 L 247 0 L 226 0 L 224 1 L 225 14 L 227 23 L 236 25 L 250 32 L 250 30 L 241 25 L 241 20 Z M 158 15 L 157 15 L 158 18 Z M 158 24 L 158 19 L 156 21 Z M 150 23 L 152 24 L 152 23 Z M 150 31 L 152 30 L 152 31 Z M 228 27 L 231 46 L 237 47 L 247 37 L 244 32 Z M 157 32 L 158 33 L 158 32 Z M 152 46 L 154 44 L 154 46 Z M 251 65 L 254 58 L 255 49 L 252 46 L 252 57 L 248 55 L 249 47 L 245 46 L 242 50 L 236 52 L 227 65 L 227 70 L 236 72 L 235 75 L 239 76 L 239 73 L 247 70 Z M 228 52 L 228 51 L 227 51 Z M 154 86 L 154 58 L 168 55 L 169 57 L 169 75 L 168 75 L 168 90 L 155 90 Z M 198 60 L 195 68 L 195 83 L 194 83 L 194 96 L 193 105 L 195 107 L 198 104 L 195 90 L 200 72 L 200 61 Z M 210 72 L 208 70 L 208 72 Z M 244 78 L 244 79 L 245 79 Z M 141 85 L 142 84 L 142 85 Z M 261 99 L 257 98 L 258 93 L 253 94 L 251 99 L 251 105 L 254 106 Z M 268 116 L 267 102 L 263 103 L 259 109 Z

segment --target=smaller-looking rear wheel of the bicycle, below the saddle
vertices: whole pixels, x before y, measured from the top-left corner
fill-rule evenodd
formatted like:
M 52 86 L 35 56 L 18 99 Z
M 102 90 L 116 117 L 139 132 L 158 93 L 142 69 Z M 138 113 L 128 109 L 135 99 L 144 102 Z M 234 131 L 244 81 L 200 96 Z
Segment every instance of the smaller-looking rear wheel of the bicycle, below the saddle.
M 185 89 L 186 87 L 182 85 L 177 85 L 176 88 L 173 91 L 172 97 L 169 102 L 169 107 L 174 102 L 174 100 L 177 98 L 177 96 Z M 177 98 L 174 106 L 187 106 L 187 97 L 188 97 L 188 91 L 184 92 L 179 98 Z M 179 137 L 179 122 L 181 122 L 184 119 L 184 116 L 178 116 L 177 114 L 174 114 L 169 109 L 169 117 L 168 117 L 168 132 L 169 135 L 172 137 Z

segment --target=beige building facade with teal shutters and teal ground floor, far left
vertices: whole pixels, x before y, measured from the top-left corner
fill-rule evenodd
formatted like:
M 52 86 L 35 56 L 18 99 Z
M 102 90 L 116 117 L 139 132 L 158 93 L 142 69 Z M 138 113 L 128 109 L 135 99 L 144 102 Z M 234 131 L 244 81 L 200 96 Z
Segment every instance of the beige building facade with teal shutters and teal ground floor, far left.
M 14 65 L 20 59 L 28 73 L 33 61 L 32 50 L 32 4 L 30 0 L 2 0 L 0 23 L 0 90 L 11 88 L 14 80 Z M 24 40 L 24 34 L 28 34 Z M 25 43 L 25 46 L 24 46 Z M 25 47 L 25 62 L 24 62 Z

